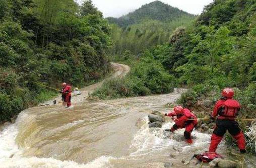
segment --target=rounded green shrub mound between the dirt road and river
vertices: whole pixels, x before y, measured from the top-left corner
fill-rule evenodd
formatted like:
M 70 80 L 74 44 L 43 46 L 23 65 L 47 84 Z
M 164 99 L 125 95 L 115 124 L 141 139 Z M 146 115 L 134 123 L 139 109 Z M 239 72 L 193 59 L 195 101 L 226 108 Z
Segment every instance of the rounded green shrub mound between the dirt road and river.
M 124 78 L 106 80 L 91 96 L 100 99 L 115 99 L 150 94 L 165 94 L 173 91 L 176 78 L 166 72 L 153 58 L 142 58 Z

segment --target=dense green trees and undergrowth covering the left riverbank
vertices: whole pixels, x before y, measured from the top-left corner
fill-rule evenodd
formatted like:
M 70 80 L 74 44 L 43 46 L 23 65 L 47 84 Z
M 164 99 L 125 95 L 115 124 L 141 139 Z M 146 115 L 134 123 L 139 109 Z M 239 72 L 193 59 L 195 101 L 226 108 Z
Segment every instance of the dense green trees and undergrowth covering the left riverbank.
M 56 93 L 59 87 L 97 80 L 109 71 L 109 26 L 86 1 L 0 1 L 0 121 Z

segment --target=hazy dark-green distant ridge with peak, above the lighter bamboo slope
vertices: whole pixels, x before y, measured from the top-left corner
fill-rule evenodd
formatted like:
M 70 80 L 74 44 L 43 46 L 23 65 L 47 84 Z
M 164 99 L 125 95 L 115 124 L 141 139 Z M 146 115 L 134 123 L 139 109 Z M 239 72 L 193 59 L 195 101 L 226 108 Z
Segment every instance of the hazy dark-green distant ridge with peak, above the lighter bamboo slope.
M 120 18 L 108 17 L 107 20 L 111 24 L 117 24 L 121 27 L 126 27 L 140 23 L 146 19 L 172 21 L 182 16 L 190 16 L 191 18 L 195 17 L 195 15 L 179 10 L 178 8 L 174 8 L 168 4 L 164 4 L 161 1 L 155 1 L 143 5 L 141 8 L 135 10 L 134 12 L 124 15 Z

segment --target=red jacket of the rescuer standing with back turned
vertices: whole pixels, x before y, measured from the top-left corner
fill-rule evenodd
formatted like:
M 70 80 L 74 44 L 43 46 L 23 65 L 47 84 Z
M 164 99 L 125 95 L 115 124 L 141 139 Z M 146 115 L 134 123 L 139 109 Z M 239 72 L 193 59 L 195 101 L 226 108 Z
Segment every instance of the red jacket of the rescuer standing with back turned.
M 213 112 L 212 112 L 212 117 L 217 117 L 218 115 L 218 119 L 229 119 L 229 120 L 234 120 L 235 117 L 228 117 L 228 116 L 223 116 L 220 114 L 220 110 L 221 108 L 224 108 L 224 107 L 233 107 L 233 108 L 237 108 L 238 110 L 240 109 L 240 104 L 235 101 L 235 100 L 232 100 L 232 99 L 227 99 L 227 100 L 219 100 L 215 106 L 214 106 L 214 109 L 213 109 Z M 224 109 L 223 109 L 224 110 Z

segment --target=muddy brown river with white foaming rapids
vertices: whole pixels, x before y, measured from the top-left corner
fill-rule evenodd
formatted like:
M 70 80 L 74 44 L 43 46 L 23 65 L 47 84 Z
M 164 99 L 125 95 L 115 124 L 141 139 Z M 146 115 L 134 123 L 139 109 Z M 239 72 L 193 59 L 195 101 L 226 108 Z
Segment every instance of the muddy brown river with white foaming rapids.
M 126 65 L 112 65 L 115 77 L 129 71 Z M 182 90 L 109 101 L 86 99 L 101 84 L 82 89 L 81 96 L 72 98 L 73 108 L 61 104 L 30 108 L 21 112 L 14 124 L 0 127 L 0 167 L 201 166 L 195 165 L 195 159 L 188 165 L 181 160 L 207 151 L 210 134 L 194 130 L 197 138 L 187 145 L 165 138 L 164 130 L 173 125 L 171 121 L 162 128 L 148 128 L 147 115 L 171 110 L 164 105 L 178 99 Z M 182 136 L 183 131 L 175 134 Z M 218 152 L 227 156 L 224 143 Z

